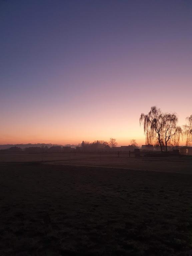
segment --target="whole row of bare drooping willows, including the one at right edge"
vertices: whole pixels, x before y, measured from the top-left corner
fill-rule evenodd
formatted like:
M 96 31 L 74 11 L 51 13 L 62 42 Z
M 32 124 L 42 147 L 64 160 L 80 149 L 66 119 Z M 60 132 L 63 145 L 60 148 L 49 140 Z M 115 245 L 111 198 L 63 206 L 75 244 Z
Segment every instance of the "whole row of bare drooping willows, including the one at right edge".
M 169 145 L 179 145 L 181 137 L 186 138 L 186 145 L 192 142 L 192 115 L 186 118 L 187 124 L 178 126 L 176 113 L 163 113 L 160 108 L 152 106 L 148 114 L 141 114 L 140 125 L 143 124 L 146 144 L 159 144 L 161 151 Z

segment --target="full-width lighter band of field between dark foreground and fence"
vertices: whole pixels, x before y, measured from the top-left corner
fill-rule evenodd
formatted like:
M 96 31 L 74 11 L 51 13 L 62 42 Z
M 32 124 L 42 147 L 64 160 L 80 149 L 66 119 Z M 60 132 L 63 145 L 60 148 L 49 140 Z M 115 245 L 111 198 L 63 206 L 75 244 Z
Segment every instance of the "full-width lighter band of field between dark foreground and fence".
M 127 154 L 15 153 L 0 154 L 0 162 L 49 162 L 75 166 L 103 166 L 174 173 L 192 173 L 192 157 L 129 157 Z

